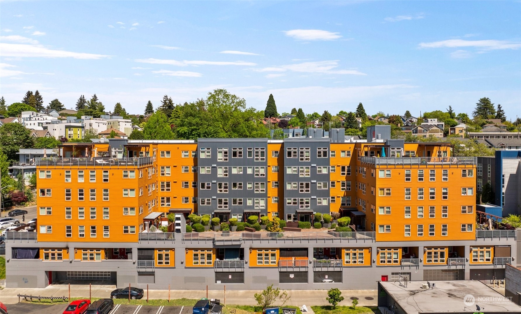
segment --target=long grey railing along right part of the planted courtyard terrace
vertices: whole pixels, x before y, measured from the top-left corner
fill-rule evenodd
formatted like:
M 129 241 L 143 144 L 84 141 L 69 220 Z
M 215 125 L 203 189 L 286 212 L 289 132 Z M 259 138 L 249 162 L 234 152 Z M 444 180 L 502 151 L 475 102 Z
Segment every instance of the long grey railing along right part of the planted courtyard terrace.
M 243 232 L 244 242 L 348 243 L 375 242 L 375 232 Z

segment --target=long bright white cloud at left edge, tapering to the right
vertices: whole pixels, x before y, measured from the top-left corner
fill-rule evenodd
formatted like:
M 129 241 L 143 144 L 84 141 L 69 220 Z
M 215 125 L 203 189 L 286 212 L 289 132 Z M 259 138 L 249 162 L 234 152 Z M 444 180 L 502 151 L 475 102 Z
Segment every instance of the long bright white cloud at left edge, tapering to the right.
M 29 58 L 74 58 L 74 59 L 102 59 L 111 56 L 75 53 L 72 51 L 48 49 L 42 45 L 22 45 L 0 43 L 0 50 L 4 57 L 29 57 Z

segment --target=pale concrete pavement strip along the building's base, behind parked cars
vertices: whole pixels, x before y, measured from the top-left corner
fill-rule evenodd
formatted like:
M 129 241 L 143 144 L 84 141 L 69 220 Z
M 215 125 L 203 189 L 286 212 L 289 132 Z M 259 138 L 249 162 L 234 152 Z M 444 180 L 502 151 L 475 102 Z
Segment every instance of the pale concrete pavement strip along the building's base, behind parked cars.
M 93 285 L 92 297 L 108 298 L 110 292 L 116 289 L 115 285 Z M 377 291 L 376 290 L 341 290 L 344 300 L 339 305 L 351 305 L 350 297 L 358 298 L 358 305 L 376 306 Z M 253 295 L 261 291 L 247 290 L 237 291 L 230 290 L 226 292 L 226 303 L 237 305 L 255 305 Z M 313 305 L 329 305 L 326 300 L 327 290 L 287 290 L 291 297 L 287 305 L 306 306 Z M 45 288 L 6 288 L 0 291 L 0 300 L 5 304 L 18 303 L 17 294 L 29 294 L 35 296 L 68 296 L 68 285 L 52 284 Z M 89 285 L 71 285 L 71 297 L 89 298 Z M 200 299 L 206 297 L 206 290 L 170 290 L 170 299 Z M 373 298 L 373 299 L 366 299 Z M 146 289 L 145 296 L 146 298 Z M 149 290 L 148 298 L 150 299 L 168 299 L 168 290 Z M 208 298 L 220 299 L 221 303 L 225 302 L 224 287 L 222 291 L 208 290 Z

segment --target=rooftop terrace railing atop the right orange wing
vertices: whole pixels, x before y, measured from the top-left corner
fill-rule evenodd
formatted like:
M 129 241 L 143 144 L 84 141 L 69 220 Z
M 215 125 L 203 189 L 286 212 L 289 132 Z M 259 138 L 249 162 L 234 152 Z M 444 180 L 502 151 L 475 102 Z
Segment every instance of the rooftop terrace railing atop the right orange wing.
M 380 165 L 437 165 L 437 166 L 466 166 L 476 165 L 477 157 L 367 157 L 362 156 L 362 163 L 371 164 L 375 167 Z

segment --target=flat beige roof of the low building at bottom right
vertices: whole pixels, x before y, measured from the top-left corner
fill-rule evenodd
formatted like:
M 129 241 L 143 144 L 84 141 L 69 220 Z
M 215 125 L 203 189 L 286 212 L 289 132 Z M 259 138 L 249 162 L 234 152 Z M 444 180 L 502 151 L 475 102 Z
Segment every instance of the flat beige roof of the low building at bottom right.
M 472 313 L 476 311 L 476 305 L 487 313 L 521 312 L 520 306 L 478 280 L 429 281 L 435 284 L 435 287 L 430 289 L 423 289 L 421 287 L 423 283 L 427 281 L 410 281 L 407 287 L 402 286 L 403 282 L 379 282 L 394 299 L 395 305 L 401 307 L 407 314 L 467 311 Z M 474 297 L 474 304 L 471 304 L 472 300 L 468 302 L 467 295 Z M 464 300 L 467 302 L 464 303 Z

